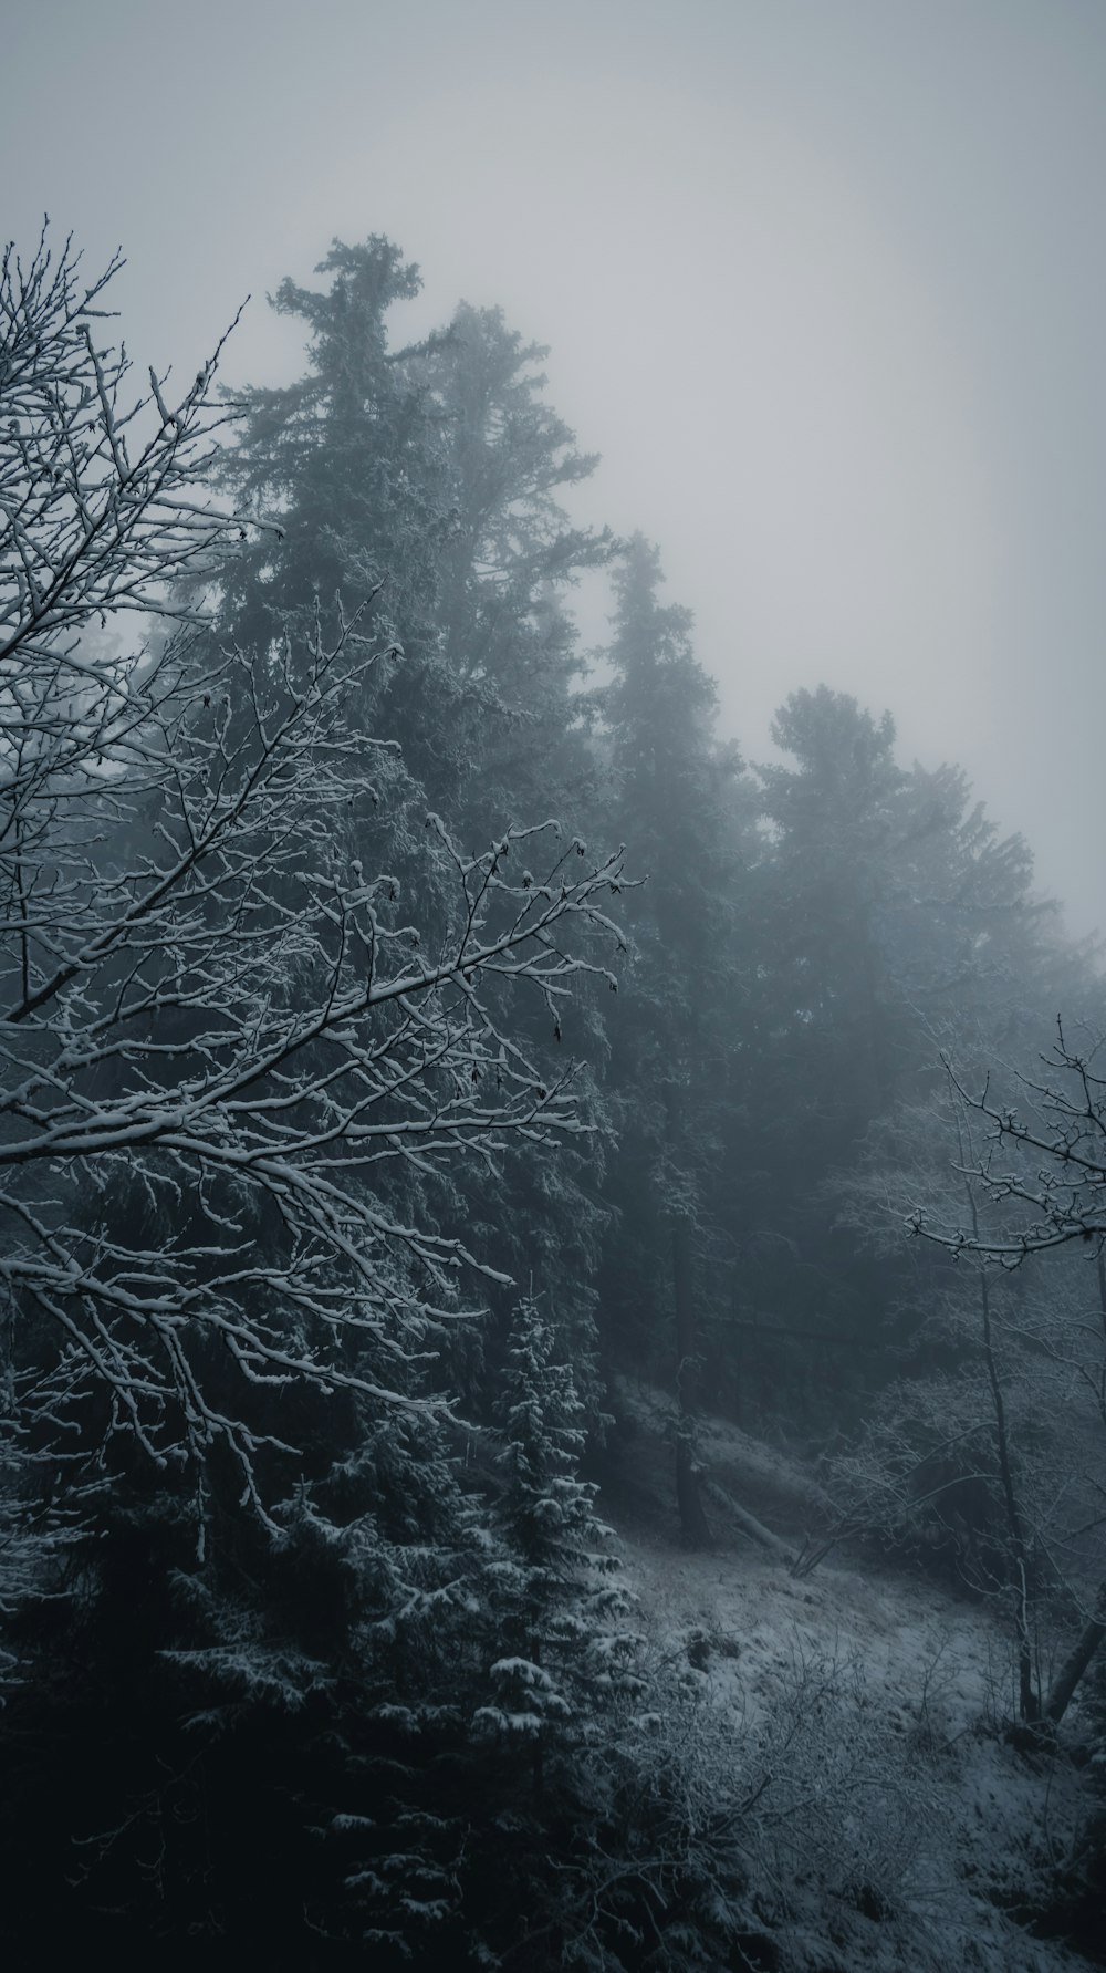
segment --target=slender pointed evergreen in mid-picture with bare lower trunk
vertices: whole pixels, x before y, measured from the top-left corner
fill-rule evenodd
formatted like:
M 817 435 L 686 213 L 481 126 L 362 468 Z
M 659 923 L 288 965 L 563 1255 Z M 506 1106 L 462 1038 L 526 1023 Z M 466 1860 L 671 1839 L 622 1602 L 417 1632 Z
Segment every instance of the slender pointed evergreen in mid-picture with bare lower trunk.
M 714 744 L 716 691 L 694 657 L 690 614 L 660 604 L 658 582 L 658 554 L 637 537 L 615 582 L 613 683 L 601 698 L 613 823 L 647 876 L 627 898 L 635 953 L 611 1038 L 621 1146 L 603 1300 L 623 1348 L 637 1332 L 657 1352 L 674 1330 L 678 1507 L 684 1535 L 702 1543 L 694 1417 L 702 1300 L 706 1290 L 714 1302 L 726 1241 L 722 1131 L 739 1101 L 749 809 L 733 750 Z

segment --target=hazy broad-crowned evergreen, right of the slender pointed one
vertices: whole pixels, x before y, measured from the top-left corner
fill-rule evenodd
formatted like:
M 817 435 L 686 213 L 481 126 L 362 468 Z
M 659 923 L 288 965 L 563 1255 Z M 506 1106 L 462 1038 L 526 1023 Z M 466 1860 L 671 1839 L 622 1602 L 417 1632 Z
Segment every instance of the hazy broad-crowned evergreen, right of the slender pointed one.
M 897 1375 L 934 1292 L 899 1227 L 850 1247 L 842 1200 L 891 1196 L 931 1154 L 942 1050 L 980 1060 L 990 1036 L 1017 1054 L 1037 996 L 1084 1002 L 1088 969 L 1033 896 L 1025 842 L 1000 837 L 958 767 L 903 771 L 891 720 L 828 689 L 795 694 L 775 736 L 793 762 L 759 769 L 771 837 L 745 1018 L 761 1237 L 737 1334 L 753 1399 L 785 1387 L 820 1432 Z

